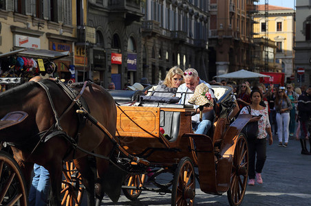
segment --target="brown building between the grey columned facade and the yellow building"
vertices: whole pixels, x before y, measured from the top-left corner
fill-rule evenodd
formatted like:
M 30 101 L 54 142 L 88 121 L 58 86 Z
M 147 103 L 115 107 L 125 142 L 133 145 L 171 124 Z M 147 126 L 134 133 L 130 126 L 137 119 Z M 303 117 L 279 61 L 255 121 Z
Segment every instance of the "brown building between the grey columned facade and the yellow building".
M 212 1 L 208 47 L 213 76 L 253 69 L 253 1 Z M 213 67 L 213 65 L 216 65 Z

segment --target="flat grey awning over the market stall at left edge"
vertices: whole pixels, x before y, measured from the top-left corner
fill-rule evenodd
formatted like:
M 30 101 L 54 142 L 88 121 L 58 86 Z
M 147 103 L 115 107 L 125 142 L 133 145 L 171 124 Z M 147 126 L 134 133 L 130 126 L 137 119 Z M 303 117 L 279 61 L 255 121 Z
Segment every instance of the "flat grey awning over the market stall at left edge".
M 32 56 L 37 58 L 48 58 L 50 60 L 55 60 L 58 58 L 63 58 L 65 56 L 69 56 L 69 52 L 56 52 L 47 49 L 34 49 L 34 48 L 23 48 L 17 49 L 12 52 L 8 52 L 6 54 L 0 54 L 0 58 L 11 56 L 11 55 L 19 55 L 19 56 Z

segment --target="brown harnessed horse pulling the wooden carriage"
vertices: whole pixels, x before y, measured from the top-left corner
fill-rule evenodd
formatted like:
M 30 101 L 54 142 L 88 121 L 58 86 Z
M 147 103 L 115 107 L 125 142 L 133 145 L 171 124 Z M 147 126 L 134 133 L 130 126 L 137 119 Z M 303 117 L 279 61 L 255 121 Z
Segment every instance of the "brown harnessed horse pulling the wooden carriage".
M 58 117 L 61 116 L 72 104 L 72 100 L 56 84 L 56 81 L 43 80 L 41 82 L 48 88 Z M 116 105 L 111 95 L 103 87 L 89 84 L 82 97 L 87 102 L 89 113 L 103 124 L 114 137 L 116 134 Z M 8 141 L 13 144 L 14 158 L 21 166 L 27 185 L 30 186 L 33 164 L 43 165 L 50 172 L 50 203 L 61 205 L 62 161 L 75 159 L 74 163 L 83 176 L 83 184 L 87 190 L 88 205 L 95 204 L 94 188 L 96 205 L 100 205 L 105 192 L 104 188 L 107 188 L 103 182 L 107 168 L 109 168 L 109 161 L 96 157 L 98 179 L 95 187 L 94 178 L 92 178 L 94 174 L 89 168 L 87 154 L 81 150 L 75 150 L 72 142 L 68 141 L 65 135 L 52 135 L 53 137 L 47 141 L 40 141 L 42 135 L 39 134 L 44 134 L 49 130 L 51 126 L 55 125 L 57 119 L 43 87 L 37 82 L 27 82 L 0 93 L 0 118 L 11 111 L 25 111 L 28 113 L 28 117 L 20 124 L 0 130 L 0 141 Z M 98 155 L 106 157 L 110 155 L 113 147 L 110 139 L 88 121 L 81 126 L 75 106 L 63 115 L 59 126 L 67 136 L 77 138 L 78 147 L 93 151 Z M 36 146 L 37 144 L 38 146 Z

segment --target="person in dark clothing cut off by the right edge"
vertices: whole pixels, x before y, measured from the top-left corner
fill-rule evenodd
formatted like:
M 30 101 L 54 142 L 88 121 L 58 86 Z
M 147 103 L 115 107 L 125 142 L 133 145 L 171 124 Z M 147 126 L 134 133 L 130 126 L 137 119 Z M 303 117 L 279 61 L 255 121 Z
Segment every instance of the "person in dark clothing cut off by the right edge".
M 307 150 L 306 139 L 308 132 L 311 133 L 311 85 L 298 98 L 298 118 L 301 124 L 301 154 L 310 155 L 311 140 L 309 139 L 310 152 Z

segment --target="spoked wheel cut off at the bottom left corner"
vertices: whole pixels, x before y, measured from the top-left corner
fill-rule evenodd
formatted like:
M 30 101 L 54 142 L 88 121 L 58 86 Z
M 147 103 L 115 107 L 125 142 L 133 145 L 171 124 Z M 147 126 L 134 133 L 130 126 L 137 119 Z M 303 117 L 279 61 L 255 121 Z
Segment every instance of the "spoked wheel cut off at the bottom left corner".
M 17 162 L 0 151 L 0 205 L 27 205 L 25 180 Z

